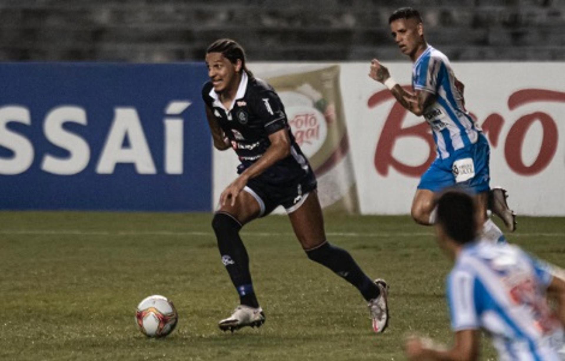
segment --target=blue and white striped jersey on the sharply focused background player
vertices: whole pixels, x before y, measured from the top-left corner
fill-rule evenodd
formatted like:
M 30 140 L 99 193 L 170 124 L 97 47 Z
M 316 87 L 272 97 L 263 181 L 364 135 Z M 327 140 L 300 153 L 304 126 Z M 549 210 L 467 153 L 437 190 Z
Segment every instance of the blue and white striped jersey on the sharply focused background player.
M 477 142 L 479 129 L 465 110 L 463 94 L 455 86 L 455 74 L 447 56 L 428 45 L 414 62 L 412 87 L 436 95 L 436 101 L 424 109 L 424 118 L 432 126 L 441 159 Z

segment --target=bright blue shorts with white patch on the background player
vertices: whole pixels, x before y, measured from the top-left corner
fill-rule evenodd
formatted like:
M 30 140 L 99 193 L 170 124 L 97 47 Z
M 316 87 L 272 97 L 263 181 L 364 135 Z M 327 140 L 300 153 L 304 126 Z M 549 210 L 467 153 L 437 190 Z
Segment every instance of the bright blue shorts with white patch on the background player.
M 441 192 L 460 187 L 472 193 L 490 190 L 489 143 L 483 134 L 469 147 L 457 149 L 446 159 L 437 158 L 420 178 L 418 189 Z

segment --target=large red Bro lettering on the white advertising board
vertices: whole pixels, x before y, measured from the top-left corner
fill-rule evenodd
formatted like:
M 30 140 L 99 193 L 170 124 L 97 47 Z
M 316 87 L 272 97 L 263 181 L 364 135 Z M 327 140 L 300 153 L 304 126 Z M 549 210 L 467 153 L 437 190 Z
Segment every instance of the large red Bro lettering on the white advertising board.
M 369 109 L 395 100 L 388 89 L 378 91 L 371 95 L 367 101 Z M 497 147 L 503 152 L 506 163 L 510 170 L 519 175 L 535 175 L 543 171 L 555 160 L 559 143 L 558 127 L 554 116 L 545 111 L 540 103 L 565 103 L 565 92 L 549 89 L 519 89 L 510 94 L 507 100 L 509 111 L 519 112 L 520 107 L 529 104 L 538 107 L 535 112 L 518 113 L 516 119 L 505 119 L 499 112 L 492 112 L 483 120 L 478 120 L 475 115 L 475 124 L 483 128 L 485 136 L 488 138 L 491 148 Z M 544 105 L 545 106 L 545 105 Z M 420 177 L 436 159 L 436 145 L 429 134 L 429 125 L 422 122 L 416 125 L 405 125 L 405 118 L 408 111 L 401 104 L 395 103 L 388 115 L 385 115 L 383 130 L 377 140 L 375 148 L 374 164 L 377 173 L 386 176 L 392 168 L 403 175 L 409 177 Z M 533 156 L 533 161 L 526 161 L 522 149 L 529 139 L 535 137 L 534 132 L 530 132 L 532 127 L 538 124 L 541 126 L 543 137 L 541 146 Z M 508 127 L 508 131 L 501 131 Z M 407 137 L 418 138 L 428 144 L 428 158 L 418 165 L 410 164 L 398 158 L 393 152 L 396 143 L 400 139 Z M 303 148 L 302 148 L 303 149 Z M 304 149 L 303 149 L 304 150 Z

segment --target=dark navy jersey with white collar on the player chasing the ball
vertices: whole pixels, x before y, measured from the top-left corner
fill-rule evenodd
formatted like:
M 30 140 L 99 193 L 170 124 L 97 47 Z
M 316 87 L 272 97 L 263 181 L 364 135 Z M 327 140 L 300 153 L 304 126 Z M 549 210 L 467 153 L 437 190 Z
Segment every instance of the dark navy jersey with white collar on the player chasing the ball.
M 231 108 L 219 100 L 212 82 L 202 88 L 202 98 L 232 143 L 241 161 L 241 173 L 260 159 L 271 145 L 269 135 L 284 129 L 290 138 L 290 154 L 266 169 L 262 178 L 274 183 L 285 182 L 311 172 L 310 165 L 295 142 L 279 96 L 268 83 L 243 72 Z

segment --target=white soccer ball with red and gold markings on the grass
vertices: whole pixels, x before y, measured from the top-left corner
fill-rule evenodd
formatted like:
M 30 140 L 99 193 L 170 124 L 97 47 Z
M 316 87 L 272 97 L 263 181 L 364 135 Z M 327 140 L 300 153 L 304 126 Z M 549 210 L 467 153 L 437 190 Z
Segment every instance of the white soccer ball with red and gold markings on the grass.
M 154 294 L 137 306 L 136 321 L 140 331 L 148 337 L 165 337 L 173 332 L 179 315 L 167 297 Z

